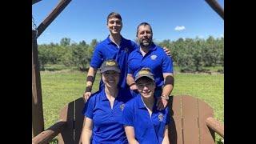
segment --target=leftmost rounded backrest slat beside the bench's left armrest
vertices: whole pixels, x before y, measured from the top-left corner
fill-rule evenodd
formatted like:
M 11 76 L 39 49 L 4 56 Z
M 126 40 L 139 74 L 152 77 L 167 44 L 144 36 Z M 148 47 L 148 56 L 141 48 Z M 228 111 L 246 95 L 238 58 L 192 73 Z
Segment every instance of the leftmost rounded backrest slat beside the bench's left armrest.
M 58 143 L 74 143 L 74 101 L 62 109 L 60 118 L 66 119 L 66 126 L 58 134 Z

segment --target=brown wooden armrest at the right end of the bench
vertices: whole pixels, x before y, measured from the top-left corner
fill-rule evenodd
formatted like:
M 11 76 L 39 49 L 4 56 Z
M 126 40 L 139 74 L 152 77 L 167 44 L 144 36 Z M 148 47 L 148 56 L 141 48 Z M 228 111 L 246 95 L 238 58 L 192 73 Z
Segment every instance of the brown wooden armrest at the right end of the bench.
M 209 117 L 206 119 L 206 125 L 210 127 L 210 129 L 214 130 L 217 134 L 222 136 L 222 138 L 224 138 L 224 125 L 221 122 L 218 122 L 218 120 Z

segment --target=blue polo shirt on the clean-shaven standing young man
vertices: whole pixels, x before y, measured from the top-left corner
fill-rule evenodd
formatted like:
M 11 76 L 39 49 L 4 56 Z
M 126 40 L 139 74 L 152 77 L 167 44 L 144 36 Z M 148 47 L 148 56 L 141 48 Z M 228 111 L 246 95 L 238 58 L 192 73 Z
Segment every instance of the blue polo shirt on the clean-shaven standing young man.
M 130 54 L 131 51 L 136 49 L 137 44 L 133 41 L 130 41 L 126 38 L 122 38 L 121 36 L 121 43 L 120 47 L 112 42 L 110 40 L 110 36 L 108 36 L 104 41 L 100 42 L 94 49 L 94 54 L 90 61 L 90 66 L 92 66 L 94 69 L 98 69 L 102 62 L 104 62 L 107 59 L 115 59 L 121 69 L 121 75 L 120 75 L 120 81 L 118 86 L 121 86 L 122 88 L 129 88 L 129 86 L 126 85 L 126 75 L 127 75 L 127 59 L 128 54 Z M 102 89 L 102 86 L 104 83 L 100 82 L 100 90 Z

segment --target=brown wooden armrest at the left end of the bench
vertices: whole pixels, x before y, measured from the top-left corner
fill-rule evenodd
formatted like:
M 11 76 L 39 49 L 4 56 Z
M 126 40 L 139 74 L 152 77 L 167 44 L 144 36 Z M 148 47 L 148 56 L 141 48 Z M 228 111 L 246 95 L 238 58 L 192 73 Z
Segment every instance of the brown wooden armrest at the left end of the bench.
M 60 121 L 55 123 L 53 126 L 50 126 L 42 133 L 38 134 L 36 137 L 32 138 L 33 144 L 42 144 L 49 143 L 54 137 L 56 137 L 62 130 L 62 128 L 66 125 L 66 122 Z

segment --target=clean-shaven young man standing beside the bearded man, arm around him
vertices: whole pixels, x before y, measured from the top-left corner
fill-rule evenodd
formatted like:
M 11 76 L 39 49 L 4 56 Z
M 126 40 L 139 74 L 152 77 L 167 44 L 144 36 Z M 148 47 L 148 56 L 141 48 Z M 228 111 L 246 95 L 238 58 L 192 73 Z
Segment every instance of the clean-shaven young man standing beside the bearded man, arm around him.
M 102 62 L 107 59 L 115 59 L 116 62 L 118 62 L 121 69 L 118 86 L 125 88 L 130 92 L 129 86 L 126 85 L 127 59 L 130 52 L 135 50 L 138 45 L 135 42 L 122 37 L 122 18 L 120 14 L 112 12 L 107 16 L 106 20 L 106 26 L 110 30 L 110 35 L 94 48 L 94 54 L 86 78 L 86 90 L 83 94 L 83 98 L 85 99 L 90 97 L 95 74 L 99 66 L 101 66 Z M 170 55 L 170 50 L 167 48 L 164 48 L 164 50 L 166 51 L 166 54 Z M 101 80 L 99 89 L 102 89 L 103 85 Z

